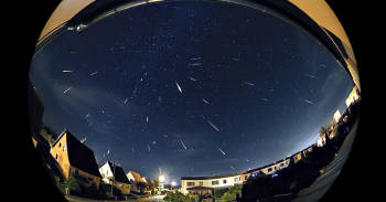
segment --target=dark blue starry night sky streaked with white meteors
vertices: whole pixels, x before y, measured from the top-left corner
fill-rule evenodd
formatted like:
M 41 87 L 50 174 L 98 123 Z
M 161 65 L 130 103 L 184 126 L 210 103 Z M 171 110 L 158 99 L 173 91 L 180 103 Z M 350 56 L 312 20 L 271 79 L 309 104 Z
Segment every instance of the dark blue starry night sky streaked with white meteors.
M 258 168 L 314 143 L 353 82 L 302 30 L 225 2 L 162 2 L 67 30 L 30 78 L 43 123 L 98 163 L 167 182 Z

